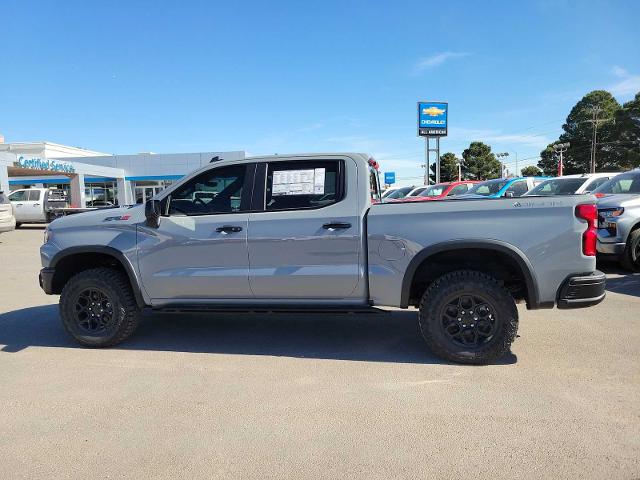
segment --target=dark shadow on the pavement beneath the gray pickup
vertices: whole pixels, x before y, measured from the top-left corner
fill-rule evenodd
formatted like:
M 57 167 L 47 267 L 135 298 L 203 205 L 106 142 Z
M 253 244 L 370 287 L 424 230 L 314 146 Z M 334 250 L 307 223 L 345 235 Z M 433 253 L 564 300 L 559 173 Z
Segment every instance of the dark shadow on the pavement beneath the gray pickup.
M 145 314 L 129 341 L 114 347 L 370 362 L 447 364 L 418 336 L 415 311 L 379 314 Z M 2 352 L 30 346 L 81 348 L 64 332 L 57 305 L 0 314 Z M 499 362 L 517 361 L 513 354 Z

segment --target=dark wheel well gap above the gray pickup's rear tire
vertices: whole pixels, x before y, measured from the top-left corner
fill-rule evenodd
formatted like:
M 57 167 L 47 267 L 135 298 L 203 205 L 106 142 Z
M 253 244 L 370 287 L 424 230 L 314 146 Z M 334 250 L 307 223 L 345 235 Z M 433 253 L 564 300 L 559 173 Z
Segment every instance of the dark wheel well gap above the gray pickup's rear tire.
M 417 267 L 411 280 L 409 305 L 418 305 L 434 280 L 456 270 L 475 270 L 501 282 L 516 301 L 535 301 L 523 267 L 510 254 L 487 248 L 460 248 L 434 253 Z

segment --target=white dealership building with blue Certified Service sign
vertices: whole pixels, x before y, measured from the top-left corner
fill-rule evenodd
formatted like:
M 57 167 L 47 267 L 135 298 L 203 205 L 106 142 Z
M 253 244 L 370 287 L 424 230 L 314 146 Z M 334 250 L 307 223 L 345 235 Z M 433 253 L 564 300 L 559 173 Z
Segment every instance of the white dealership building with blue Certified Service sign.
M 130 205 L 148 200 L 187 173 L 219 157 L 244 151 L 110 155 L 51 142 L 4 143 L 0 136 L 0 190 L 58 188 L 70 204 L 107 201 Z

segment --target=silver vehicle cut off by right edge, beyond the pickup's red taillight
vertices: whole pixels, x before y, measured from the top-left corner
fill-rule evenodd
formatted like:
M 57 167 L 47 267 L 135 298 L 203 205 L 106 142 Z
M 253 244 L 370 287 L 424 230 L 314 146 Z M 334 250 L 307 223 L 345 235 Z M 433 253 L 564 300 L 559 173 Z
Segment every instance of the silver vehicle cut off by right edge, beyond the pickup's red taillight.
M 612 178 L 593 192 L 598 201 L 598 253 L 640 271 L 640 169 Z

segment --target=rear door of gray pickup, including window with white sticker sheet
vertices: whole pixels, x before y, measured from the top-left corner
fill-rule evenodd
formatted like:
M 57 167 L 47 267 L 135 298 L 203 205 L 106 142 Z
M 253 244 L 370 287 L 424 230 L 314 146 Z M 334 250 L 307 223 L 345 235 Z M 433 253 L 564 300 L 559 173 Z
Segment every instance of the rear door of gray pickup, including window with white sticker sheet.
M 248 236 L 257 298 L 363 297 L 356 171 L 350 158 L 259 164 Z

